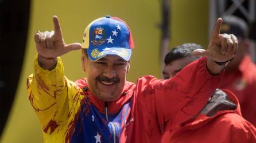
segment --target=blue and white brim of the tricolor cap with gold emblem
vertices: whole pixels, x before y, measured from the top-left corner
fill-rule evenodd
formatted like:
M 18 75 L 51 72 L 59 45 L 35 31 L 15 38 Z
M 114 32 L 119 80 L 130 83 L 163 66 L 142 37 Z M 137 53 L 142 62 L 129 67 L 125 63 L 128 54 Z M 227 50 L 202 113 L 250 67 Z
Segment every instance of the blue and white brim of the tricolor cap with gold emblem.
M 131 57 L 131 49 L 125 47 L 99 47 L 86 49 L 88 57 L 91 61 L 97 61 L 106 55 L 118 55 L 125 61 L 129 61 Z

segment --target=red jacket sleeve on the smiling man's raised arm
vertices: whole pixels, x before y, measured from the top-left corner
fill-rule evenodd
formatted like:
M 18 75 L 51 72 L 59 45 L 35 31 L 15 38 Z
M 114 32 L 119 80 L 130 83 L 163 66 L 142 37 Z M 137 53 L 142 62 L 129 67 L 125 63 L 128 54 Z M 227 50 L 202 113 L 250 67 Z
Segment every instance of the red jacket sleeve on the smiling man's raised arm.
M 156 117 L 161 134 L 199 113 L 214 93 L 222 74 L 210 74 L 206 61 L 203 57 L 192 62 L 170 80 L 146 76 L 138 81 L 145 106 Z

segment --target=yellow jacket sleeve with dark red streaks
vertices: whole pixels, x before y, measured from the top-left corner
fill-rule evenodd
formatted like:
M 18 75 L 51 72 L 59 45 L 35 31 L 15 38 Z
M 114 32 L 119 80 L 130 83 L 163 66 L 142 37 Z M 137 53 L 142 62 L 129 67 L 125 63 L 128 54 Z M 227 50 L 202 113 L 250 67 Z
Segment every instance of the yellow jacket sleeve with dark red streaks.
M 30 104 L 40 120 L 45 133 L 52 133 L 69 117 L 73 95 L 79 89 L 64 77 L 63 63 L 58 57 L 55 69 L 49 71 L 38 65 L 34 59 L 33 74 L 28 77 L 27 89 Z

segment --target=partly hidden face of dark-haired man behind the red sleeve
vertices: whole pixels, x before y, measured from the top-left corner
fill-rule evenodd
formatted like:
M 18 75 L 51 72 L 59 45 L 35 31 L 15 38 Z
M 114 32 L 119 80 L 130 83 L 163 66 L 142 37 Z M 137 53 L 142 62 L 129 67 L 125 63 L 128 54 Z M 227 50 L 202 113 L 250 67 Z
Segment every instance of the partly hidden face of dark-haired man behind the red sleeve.
M 185 58 L 176 59 L 170 62 L 168 65 L 164 66 L 164 70 L 162 71 L 162 76 L 165 80 L 174 77 L 180 70 L 182 70 L 185 66 L 191 63 L 194 59 L 189 56 Z

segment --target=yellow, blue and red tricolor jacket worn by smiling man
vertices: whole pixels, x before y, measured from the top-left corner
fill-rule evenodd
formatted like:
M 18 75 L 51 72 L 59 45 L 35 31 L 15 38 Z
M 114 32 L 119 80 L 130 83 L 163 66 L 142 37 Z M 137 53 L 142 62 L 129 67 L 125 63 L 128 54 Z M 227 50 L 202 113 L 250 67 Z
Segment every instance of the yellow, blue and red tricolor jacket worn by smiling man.
M 192 62 L 171 80 L 126 81 L 117 101 L 104 102 L 92 95 L 86 78 L 69 81 L 60 58 L 49 71 L 36 57 L 29 100 L 45 142 L 160 142 L 172 126 L 199 113 L 217 88 L 222 74 L 210 74 L 206 61 Z

